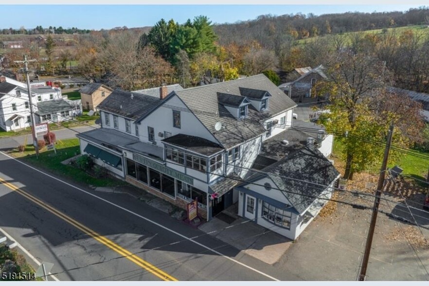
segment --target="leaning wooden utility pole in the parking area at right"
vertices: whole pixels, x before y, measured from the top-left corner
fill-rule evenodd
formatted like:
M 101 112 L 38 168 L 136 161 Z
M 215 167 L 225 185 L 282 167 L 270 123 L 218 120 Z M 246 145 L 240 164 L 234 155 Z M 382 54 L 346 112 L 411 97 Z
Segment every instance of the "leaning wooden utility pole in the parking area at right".
M 383 189 L 384 177 L 386 175 L 386 170 L 387 170 L 386 169 L 387 168 L 387 160 L 389 158 L 390 145 L 392 144 L 392 135 L 393 135 L 393 124 L 391 124 L 390 128 L 389 128 L 389 135 L 387 137 L 386 149 L 384 150 L 384 158 L 383 158 L 383 162 L 381 164 L 380 176 L 378 177 L 378 185 L 377 185 L 377 190 L 375 192 L 373 214 L 371 216 L 370 229 L 368 231 L 368 236 L 366 238 L 366 246 L 365 246 L 365 252 L 364 252 L 363 258 L 362 258 L 362 266 L 360 268 L 359 281 L 365 281 L 366 269 L 368 267 L 369 254 L 371 252 L 371 245 L 373 243 L 375 222 L 377 221 L 378 206 L 380 205 L 381 190 Z

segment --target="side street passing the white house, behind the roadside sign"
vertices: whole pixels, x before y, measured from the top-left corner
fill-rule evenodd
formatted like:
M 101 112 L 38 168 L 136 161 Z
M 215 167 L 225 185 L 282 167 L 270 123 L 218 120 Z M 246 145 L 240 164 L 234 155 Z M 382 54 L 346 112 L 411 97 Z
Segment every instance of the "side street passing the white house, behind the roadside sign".
M 98 128 L 99 125 L 70 127 L 70 129 L 64 128 L 64 129 L 54 130 L 54 133 L 57 140 L 70 139 L 70 138 L 75 138 L 76 133 L 92 130 L 94 129 L 94 127 Z M 31 144 L 31 134 L 16 136 L 16 137 L 0 138 L 0 150 L 4 151 L 11 148 L 17 148 L 19 145 L 24 144 L 25 138 L 27 138 L 27 144 Z M 43 136 L 39 134 L 38 138 L 42 139 Z

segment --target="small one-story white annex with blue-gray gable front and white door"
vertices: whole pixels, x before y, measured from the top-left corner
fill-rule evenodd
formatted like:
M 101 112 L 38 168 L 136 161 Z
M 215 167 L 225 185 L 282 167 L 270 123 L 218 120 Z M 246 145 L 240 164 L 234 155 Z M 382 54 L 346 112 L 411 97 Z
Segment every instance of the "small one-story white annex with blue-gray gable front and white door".
M 294 240 L 332 197 L 340 173 L 312 144 L 284 145 L 270 151 L 274 157 L 278 152 L 286 156 L 279 161 L 258 158 L 260 171 L 235 187 L 238 215 Z M 269 156 L 267 153 L 263 152 Z M 269 165 L 264 167 L 267 161 Z

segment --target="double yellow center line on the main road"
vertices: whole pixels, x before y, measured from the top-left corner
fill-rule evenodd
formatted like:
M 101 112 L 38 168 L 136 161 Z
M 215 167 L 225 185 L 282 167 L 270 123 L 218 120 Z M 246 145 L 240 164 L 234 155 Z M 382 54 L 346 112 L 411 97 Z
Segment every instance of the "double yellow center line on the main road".
M 171 275 L 168 275 L 167 273 L 162 271 L 160 268 L 157 268 L 157 267 L 153 266 L 152 264 L 148 263 L 147 261 L 144 261 L 139 256 L 132 254 L 131 252 L 120 247 L 119 245 L 117 245 L 113 241 L 111 241 L 111 240 L 107 239 L 106 237 L 98 234 L 97 232 L 92 231 L 88 227 L 86 227 L 86 226 L 82 225 L 81 223 L 77 222 L 76 220 L 72 219 L 70 216 L 61 213 L 60 211 L 54 209 L 53 207 L 46 204 L 45 202 L 43 202 L 43 201 L 39 200 L 38 198 L 28 194 L 27 192 L 19 189 L 18 187 L 16 187 L 13 184 L 5 181 L 4 179 L 0 178 L 0 183 L 5 185 L 9 189 L 17 192 L 19 195 L 31 200 L 32 202 L 34 202 L 35 204 L 44 208 L 45 210 L 49 211 L 50 213 L 52 213 L 52 214 L 58 216 L 59 218 L 65 220 L 66 222 L 70 223 L 72 226 L 74 226 L 78 230 L 88 234 L 89 236 L 91 236 L 92 238 L 97 240 L 98 242 L 104 244 L 105 246 L 107 246 L 111 250 L 116 251 L 120 255 L 122 255 L 125 258 L 127 258 L 128 260 L 134 262 L 135 264 L 137 264 L 141 268 L 149 271 L 153 275 L 161 278 L 162 280 L 164 280 L 164 281 L 178 281 L 176 278 L 172 277 Z

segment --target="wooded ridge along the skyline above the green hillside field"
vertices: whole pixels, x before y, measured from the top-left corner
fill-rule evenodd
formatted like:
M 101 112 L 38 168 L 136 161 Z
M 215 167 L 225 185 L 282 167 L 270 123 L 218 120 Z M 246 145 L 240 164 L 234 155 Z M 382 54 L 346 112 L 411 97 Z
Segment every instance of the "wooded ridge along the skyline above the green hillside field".
M 270 48 L 275 45 L 277 38 L 284 36 L 303 39 L 420 24 L 429 25 L 429 6 L 410 9 L 407 12 L 348 12 L 321 16 L 298 13 L 277 17 L 262 15 L 255 20 L 215 25 L 214 30 L 221 45 L 255 40 Z

